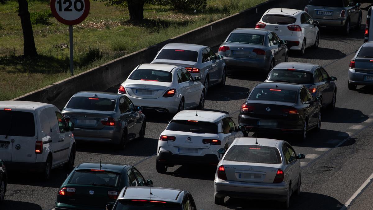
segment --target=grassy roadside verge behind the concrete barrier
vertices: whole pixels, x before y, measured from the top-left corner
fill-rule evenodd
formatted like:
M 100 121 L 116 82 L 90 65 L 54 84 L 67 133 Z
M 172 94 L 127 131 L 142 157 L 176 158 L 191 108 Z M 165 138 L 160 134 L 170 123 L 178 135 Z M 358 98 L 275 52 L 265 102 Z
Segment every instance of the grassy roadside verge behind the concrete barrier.
M 75 74 L 112 59 L 175 37 L 225 16 L 255 6 L 266 0 L 207 0 L 204 11 L 181 13 L 167 6 L 146 4 L 145 20 L 128 22 L 128 10 L 106 7 L 91 1 L 87 19 L 74 26 Z M 50 7 L 48 0 L 29 0 L 33 15 Z M 53 17 L 44 24 L 33 24 L 37 52 L 40 56 L 26 60 L 23 52 L 18 3 L 0 3 L 0 101 L 16 98 L 70 76 L 68 26 Z

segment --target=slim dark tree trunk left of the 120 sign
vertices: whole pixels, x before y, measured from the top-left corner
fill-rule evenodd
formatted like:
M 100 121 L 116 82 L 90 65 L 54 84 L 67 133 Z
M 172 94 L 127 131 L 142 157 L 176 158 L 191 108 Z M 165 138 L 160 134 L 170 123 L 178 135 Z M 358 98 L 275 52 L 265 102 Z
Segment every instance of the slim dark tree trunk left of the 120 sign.
M 34 33 L 28 12 L 27 0 L 18 0 L 18 16 L 21 18 L 23 32 L 23 55 L 26 57 L 35 57 L 38 55 L 35 48 Z

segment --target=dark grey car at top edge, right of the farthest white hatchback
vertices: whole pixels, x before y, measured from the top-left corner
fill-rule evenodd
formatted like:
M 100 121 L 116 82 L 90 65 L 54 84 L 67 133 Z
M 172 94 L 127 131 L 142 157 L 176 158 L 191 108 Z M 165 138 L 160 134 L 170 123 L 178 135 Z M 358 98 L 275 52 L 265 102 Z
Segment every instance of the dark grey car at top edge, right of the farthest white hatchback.
M 304 10 L 315 20 L 319 21 L 319 28 L 342 28 L 344 34 L 350 33 L 350 28 L 361 27 L 363 13 L 360 3 L 354 4 L 349 0 L 310 0 Z

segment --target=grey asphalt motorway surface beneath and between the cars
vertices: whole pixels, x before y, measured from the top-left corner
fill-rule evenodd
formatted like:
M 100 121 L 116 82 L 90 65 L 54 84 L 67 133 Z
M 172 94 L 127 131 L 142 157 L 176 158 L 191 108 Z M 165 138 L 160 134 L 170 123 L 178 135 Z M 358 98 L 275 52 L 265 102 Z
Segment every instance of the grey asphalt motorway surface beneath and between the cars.
M 363 4 L 362 8 L 369 6 Z M 363 11 L 363 23 L 367 10 Z M 365 25 L 364 25 L 365 26 Z M 320 132 L 310 132 L 308 139 L 298 142 L 288 136 L 259 137 L 288 140 L 301 161 L 301 194 L 293 196 L 290 209 L 351 210 L 373 209 L 370 185 L 373 173 L 373 88 L 347 88 L 348 65 L 355 50 L 363 44 L 364 30 L 351 30 L 348 36 L 339 31 L 321 31 L 319 49 L 306 49 L 305 56 L 291 53 L 289 61 L 318 64 L 329 75 L 338 78 L 337 102 L 333 111 L 324 110 Z M 260 72 L 230 70 L 226 86 L 209 89 L 205 109 L 222 111 L 237 119 L 238 110 L 249 89 L 264 81 Z M 116 92 L 117 87 L 114 87 Z M 216 167 L 175 166 L 167 174 L 156 172 L 156 146 L 160 133 L 171 116 L 148 114 L 145 139 L 128 143 L 124 151 L 97 143 L 78 143 L 75 165 L 89 161 L 132 164 L 154 186 L 186 189 L 194 197 L 198 209 L 278 209 L 275 201 L 236 200 L 226 198 L 225 206 L 214 204 Z M 251 133 L 252 134 L 252 133 Z M 256 134 L 252 134 L 256 135 Z M 53 209 L 57 191 L 68 172 L 54 169 L 48 182 L 30 173 L 11 174 L 1 210 Z

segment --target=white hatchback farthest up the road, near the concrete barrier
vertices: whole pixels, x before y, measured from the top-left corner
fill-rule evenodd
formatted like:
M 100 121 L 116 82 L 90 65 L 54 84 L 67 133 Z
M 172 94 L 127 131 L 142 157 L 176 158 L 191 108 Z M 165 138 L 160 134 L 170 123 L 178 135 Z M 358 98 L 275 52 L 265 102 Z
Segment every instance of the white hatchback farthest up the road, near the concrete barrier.
M 264 12 L 255 28 L 274 31 L 286 40 L 289 50 L 299 50 L 304 55 L 307 47 L 319 47 L 319 22 L 307 12 L 296 9 L 273 8 Z

